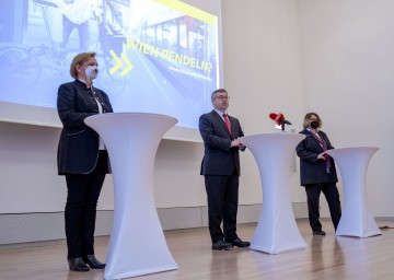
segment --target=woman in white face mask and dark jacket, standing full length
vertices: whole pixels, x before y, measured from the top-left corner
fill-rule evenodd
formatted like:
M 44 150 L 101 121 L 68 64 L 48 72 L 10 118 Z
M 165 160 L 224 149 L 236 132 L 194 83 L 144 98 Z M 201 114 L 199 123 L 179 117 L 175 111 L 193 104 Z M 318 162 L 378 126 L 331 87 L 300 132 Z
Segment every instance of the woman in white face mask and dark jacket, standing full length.
M 66 176 L 65 228 L 70 270 L 103 269 L 94 256 L 96 206 L 109 173 L 108 154 L 99 135 L 84 124 L 96 114 L 113 112 L 108 95 L 93 86 L 99 74 L 95 52 L 77 55 L 70 66 L 72 82 L 60 84 L 57 110 L 62 122 L 58 174 Z

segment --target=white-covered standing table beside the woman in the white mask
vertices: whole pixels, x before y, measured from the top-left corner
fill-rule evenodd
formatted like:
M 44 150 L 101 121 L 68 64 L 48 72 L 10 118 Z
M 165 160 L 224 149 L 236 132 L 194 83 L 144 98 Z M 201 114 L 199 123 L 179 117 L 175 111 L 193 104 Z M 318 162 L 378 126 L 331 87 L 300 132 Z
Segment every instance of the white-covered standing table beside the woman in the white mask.
M 177 269 L 153 195 L 157 150 L 176 119 L 157 114 L 111 113 L 88 117 L 85 124 L 103 138 L 114 178 L 114 224 L 105 279 Z

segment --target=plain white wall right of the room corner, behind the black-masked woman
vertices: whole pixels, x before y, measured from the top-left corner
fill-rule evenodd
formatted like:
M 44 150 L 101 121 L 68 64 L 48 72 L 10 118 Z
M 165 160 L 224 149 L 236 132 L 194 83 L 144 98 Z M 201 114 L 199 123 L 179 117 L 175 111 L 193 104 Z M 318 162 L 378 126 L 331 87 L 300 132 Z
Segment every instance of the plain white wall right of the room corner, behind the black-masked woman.
M 367 192 L 374 215 L 393 217 L 394 1 L 298 2 L 305 110 L 321 114 L 337 148 L 381 148 Z

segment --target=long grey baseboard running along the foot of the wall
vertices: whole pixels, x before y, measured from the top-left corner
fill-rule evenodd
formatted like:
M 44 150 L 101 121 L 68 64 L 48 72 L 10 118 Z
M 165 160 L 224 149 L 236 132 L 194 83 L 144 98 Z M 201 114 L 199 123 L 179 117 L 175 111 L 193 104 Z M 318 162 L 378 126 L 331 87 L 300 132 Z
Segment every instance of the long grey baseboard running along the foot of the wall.
M 305 202 L 292 203 L 296 219 L 308 218 Z M 200 207 L 158 208 L 164 231 L 208 226 L 208 210 Z M 237 223 L 256 223 L 262 205 L 240 205 Z M 65 240 L 65 213 L 0 214 L 0 245 L 50 242 Z M 378 217 L 376 220 L 394 221 L 394 217 Z M 96 236 L 111 234 L 113 211 L 97 211 Z

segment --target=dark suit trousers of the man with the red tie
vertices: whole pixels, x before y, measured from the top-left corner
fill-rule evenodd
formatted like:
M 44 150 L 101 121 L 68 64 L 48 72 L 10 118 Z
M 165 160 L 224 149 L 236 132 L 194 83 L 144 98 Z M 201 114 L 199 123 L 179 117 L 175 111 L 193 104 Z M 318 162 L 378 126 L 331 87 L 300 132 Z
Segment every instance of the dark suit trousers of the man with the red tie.
M 236 213 L 239 202 L 240 177 L 236 173 L 231 176 L 205 176 L 208 197 L 208 223 L 212 243 L 236 236 Z M 223 222 L 223 231 L 221 223 Z

